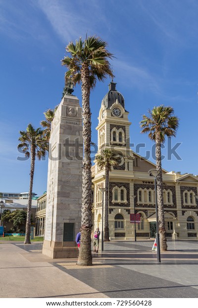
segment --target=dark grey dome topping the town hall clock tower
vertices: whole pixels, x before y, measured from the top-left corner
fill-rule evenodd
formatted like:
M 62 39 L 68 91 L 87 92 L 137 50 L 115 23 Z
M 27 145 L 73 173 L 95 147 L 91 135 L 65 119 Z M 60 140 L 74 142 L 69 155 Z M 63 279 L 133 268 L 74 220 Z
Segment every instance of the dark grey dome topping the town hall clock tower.
M 116 90 L 115 86 L 116 83 L 111 81 L 108 85 L 108 93 L 102 99 L 102 106 L 105 106 L 106 109 L 110 109 L 116 101 L 124 108 L 124 96 Z

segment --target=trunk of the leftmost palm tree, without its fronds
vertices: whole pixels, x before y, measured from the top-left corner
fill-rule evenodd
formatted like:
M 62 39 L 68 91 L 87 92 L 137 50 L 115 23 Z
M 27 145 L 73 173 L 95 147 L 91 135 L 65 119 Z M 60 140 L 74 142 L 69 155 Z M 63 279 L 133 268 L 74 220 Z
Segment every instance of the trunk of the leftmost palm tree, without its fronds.
M 30 188 L 29 188 L 29 199 L 28 199 L 24 244 L 31 244 L 31 241 L 30 241 L 31 209 L 32 209 L 32 188 L 33 188 L 33 179 L 34 179 L 35 155 L 36 155 L 36 149 L 32 145 L 31 146 L 31 167 L 30 167 Z

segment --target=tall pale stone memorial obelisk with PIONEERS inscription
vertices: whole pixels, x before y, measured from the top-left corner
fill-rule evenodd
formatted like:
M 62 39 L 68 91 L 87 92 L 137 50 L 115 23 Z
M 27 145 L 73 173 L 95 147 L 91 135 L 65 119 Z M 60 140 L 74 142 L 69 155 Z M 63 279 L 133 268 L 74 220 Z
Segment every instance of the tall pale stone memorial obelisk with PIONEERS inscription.
M 51 123 L 46 227 L 43 254 L 51 258 L 78 255 L 75 235 L 81 227 L 82 108 L 67 87 Z

